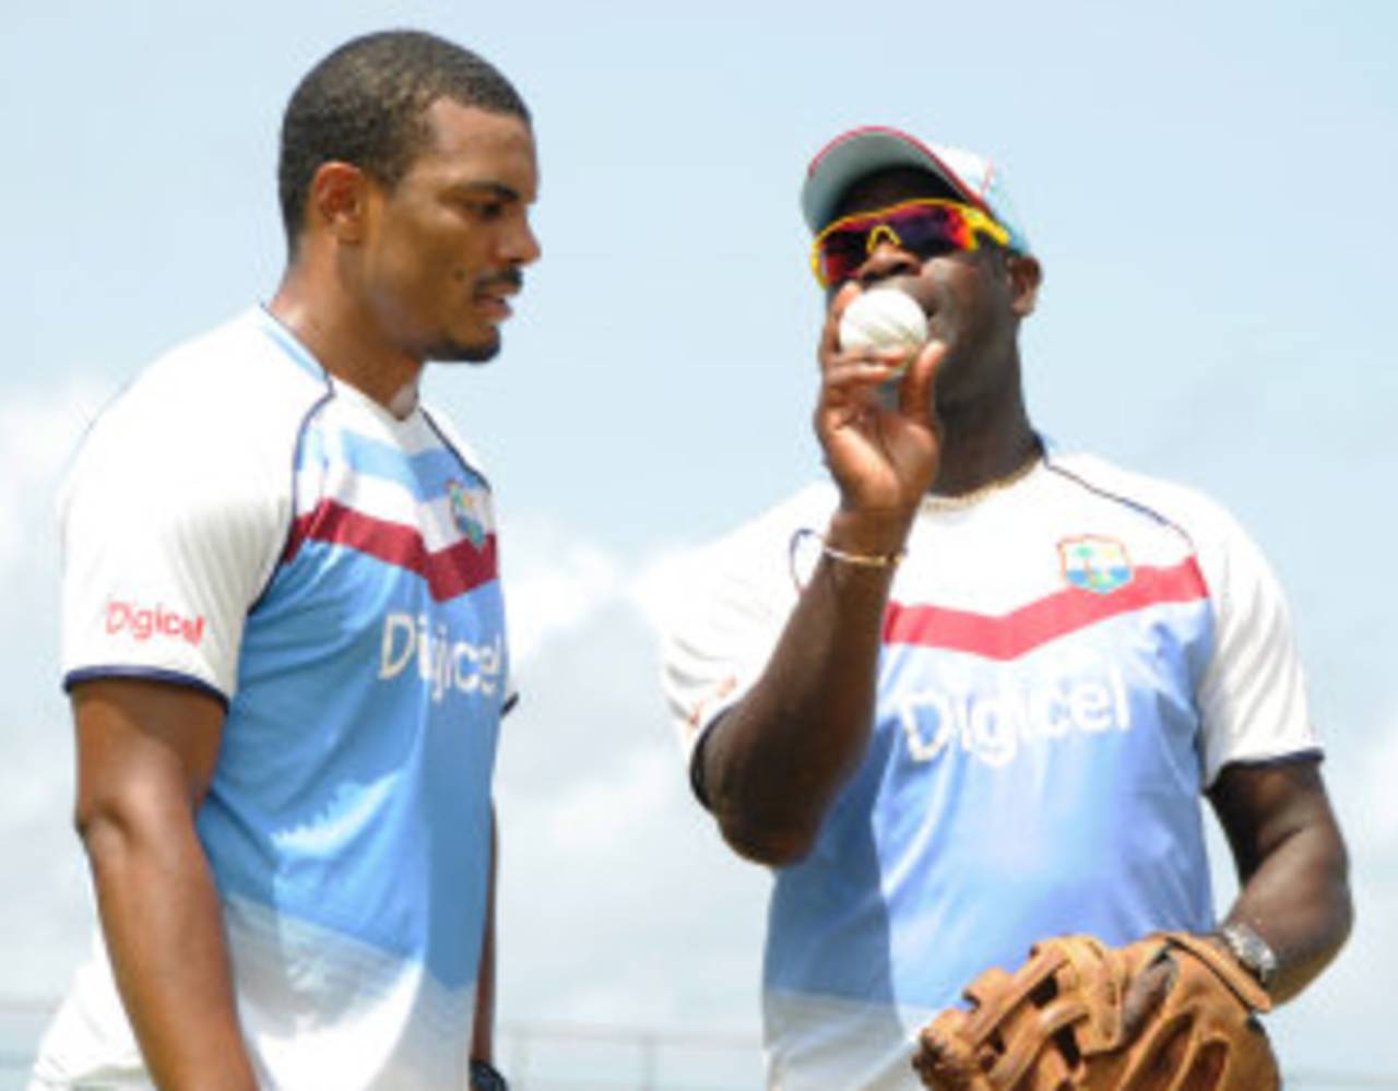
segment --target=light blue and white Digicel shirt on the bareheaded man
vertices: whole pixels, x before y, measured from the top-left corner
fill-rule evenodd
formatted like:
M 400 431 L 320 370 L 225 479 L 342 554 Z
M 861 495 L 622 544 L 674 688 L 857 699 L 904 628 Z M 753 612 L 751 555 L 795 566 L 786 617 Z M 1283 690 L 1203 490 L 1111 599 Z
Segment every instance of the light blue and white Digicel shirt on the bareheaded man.
M 464 1087 L 510 697 L 474 457 L 254 309 L 102 414 L 62 513 L 66 685 L 226 704 L 199 834 L 264 1085 Z M 101 946 L 38 1073 L 143 1085 Z

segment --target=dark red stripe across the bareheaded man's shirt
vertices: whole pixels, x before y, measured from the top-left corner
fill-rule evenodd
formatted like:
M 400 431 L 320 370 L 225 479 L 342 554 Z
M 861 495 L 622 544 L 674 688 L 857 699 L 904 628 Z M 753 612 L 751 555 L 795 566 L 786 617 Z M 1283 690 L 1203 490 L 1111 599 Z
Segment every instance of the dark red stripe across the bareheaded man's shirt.
M 489 583 L 496 575 L 495 534 L 488 534 L 481 548 L 463 539 L 431 552 L 417 527 L 375 519 L 334 501 L 322 501 L 296 519 L 282 561 L 289 564 L 308 540 L 347 546 L 386 564 L 417 572 L 439 603 Z

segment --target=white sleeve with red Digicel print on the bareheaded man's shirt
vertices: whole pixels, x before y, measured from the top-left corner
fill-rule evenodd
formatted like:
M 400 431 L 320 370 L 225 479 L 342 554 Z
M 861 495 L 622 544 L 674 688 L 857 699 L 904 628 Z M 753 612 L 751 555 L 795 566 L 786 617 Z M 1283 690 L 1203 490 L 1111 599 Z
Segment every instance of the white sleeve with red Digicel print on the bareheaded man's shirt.
M 249 312 L 152 364 L 88 432 L 60 497 L 69 683 L 169 677 L 232 697 L 243 621 L 291 525 L 324 383 Z

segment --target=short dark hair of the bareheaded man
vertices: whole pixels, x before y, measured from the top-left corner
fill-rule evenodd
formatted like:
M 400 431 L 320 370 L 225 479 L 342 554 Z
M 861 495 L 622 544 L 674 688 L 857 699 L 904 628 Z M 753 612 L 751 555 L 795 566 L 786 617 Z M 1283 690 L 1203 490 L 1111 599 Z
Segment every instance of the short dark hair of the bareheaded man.
M 366 34 L 306 73 L 282 115 L 277 164 L 292 253 L 320 165 L 350 162 L 393 187 L 426 143 L 422 113 L 439 98 L 530 120 L 524 99 L 489 62 L 424 31 Z

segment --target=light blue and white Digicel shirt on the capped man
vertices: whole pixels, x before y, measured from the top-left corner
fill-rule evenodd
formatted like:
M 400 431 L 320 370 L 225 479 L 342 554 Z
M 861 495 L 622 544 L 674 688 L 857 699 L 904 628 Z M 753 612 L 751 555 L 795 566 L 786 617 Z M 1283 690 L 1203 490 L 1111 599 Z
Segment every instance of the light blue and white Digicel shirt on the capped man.
M 793 534 L 835 505 L 809 488 L 703 558 L 665 642 L 686 758 L 763 670 Z M 1316 750 L 1275 579 L 1212 502 L 1086 456 L 969 508 L 930 498 L 868 754 L 774 873 L 769 1085 L 911 1091 L 917 1028 L 1036 940 L 1211 927 L 1201 793 L 1229 762 Z

